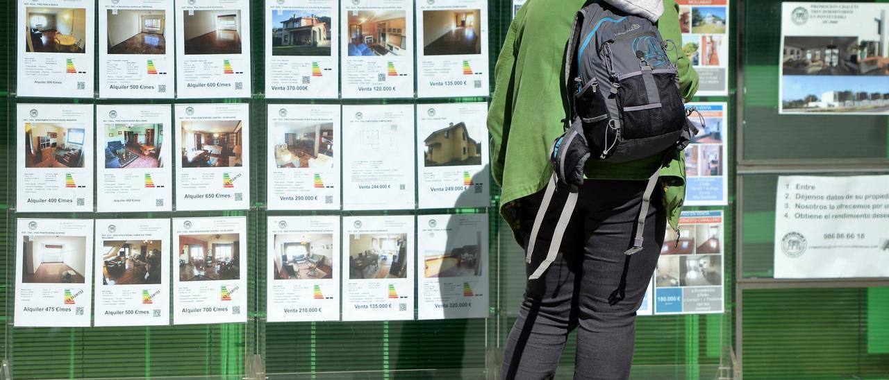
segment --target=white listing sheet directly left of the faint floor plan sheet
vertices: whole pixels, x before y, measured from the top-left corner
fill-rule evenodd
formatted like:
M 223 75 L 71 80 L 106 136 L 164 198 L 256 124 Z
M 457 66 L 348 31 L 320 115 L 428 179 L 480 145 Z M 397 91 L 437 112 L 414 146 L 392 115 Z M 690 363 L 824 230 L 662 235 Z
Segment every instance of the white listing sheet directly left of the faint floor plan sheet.
M 268 210 L 340 210 L 340 106 L 268 105 Z

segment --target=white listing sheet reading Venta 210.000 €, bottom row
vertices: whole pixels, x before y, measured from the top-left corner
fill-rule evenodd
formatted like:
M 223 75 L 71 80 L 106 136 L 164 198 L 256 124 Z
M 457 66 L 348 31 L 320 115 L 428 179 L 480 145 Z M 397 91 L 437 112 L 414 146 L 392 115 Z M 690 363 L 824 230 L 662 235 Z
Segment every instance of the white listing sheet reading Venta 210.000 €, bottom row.
M 340 218 L 268 217 L 268 321 L 340 320 Z

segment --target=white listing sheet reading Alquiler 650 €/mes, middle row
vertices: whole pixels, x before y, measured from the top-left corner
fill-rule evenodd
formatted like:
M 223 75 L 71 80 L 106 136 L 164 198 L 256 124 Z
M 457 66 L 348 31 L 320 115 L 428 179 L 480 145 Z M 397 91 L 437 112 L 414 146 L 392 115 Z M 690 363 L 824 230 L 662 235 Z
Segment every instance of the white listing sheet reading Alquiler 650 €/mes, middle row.
M 246 103 L 176 105 L 176 210 L 250 207 Z

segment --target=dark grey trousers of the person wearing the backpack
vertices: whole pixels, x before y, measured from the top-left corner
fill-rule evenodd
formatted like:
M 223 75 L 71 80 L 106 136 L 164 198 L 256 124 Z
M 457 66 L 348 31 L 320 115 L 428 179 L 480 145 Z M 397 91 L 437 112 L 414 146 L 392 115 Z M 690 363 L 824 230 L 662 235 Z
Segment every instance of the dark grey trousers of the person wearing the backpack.
M 568 334 L 577 333 L 575 379 L 625 379 L 633 361 L 636 311 L 661 254 L 667 218 L 660 186 L 645 219 L 645 244 L 632 256 L 631 234 L 644 180 L 586 180 L 558 257 L 540 279 L 527 281 L 509 333 L 503 379 L 548 379 L 556 373 Z M 557 192 L 535 242 L 530 275 L 546 256 L 567 192 Z M 520 202 L 525 247 L 542 192 Z

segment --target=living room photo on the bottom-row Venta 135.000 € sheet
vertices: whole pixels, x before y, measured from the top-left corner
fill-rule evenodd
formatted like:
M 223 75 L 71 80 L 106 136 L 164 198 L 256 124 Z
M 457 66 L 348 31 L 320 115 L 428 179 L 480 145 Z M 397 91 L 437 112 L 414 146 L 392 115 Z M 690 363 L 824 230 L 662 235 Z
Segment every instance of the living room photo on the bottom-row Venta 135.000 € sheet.
M 407 234 L 350 234 L 348 239 L 349 279 L 407 277 Z

